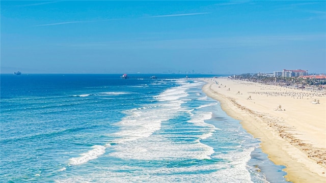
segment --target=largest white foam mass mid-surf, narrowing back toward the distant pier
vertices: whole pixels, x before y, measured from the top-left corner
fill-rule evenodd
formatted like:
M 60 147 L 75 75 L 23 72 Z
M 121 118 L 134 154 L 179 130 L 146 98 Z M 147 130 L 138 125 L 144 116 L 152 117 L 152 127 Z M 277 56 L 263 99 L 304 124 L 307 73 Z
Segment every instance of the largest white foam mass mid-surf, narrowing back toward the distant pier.
M 183 81 L 180 83 L 183 83 Z M 154 106 L 148 106 L 126 111 L 127 116 L 116 124 L 121 128 L 121 131 L 111 134 L 116 137 L 116 140 L 110 143 L 118 144 L 112 146 L 115 152 L 111 153 L 110 156 L 141 160 L 210 159 L 209 156 L 214 153 L 213 148 L 200 141 L 175 143 L 169 138 L 177 137 L 179 134 L 152 135 L 155 131 L 160 130 L 162 121 L 171 119 L 182 111 L 183 113 L 191 113 L 194 110 L 181 108 L 181 104 L 184 103 L 181 99 L 188 96 L 185 92 L 186 89 L 197 85 L 197 83 L 183 84 L 167 89 L 156 96 L 161 103 L 155 108 Z M 199 116 L 200 121 L 193 119 L 192 123 L 199 123 L 201 124 L 199 126 L 209 127 L 210 129 L 204 130 L 203 133 L 211 133 L 214 126 L 204 123 L 204 120 L 210 119 L 211 115 L 211 112 L 204 113 Z

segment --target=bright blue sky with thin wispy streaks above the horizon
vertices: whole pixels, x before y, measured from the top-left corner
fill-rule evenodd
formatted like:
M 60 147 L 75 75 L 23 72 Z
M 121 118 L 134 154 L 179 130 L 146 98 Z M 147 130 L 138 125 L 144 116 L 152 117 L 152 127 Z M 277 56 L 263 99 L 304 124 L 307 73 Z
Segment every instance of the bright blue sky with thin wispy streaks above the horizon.
M 326 73 L 326 1 L 1 1 L 1 73 Z

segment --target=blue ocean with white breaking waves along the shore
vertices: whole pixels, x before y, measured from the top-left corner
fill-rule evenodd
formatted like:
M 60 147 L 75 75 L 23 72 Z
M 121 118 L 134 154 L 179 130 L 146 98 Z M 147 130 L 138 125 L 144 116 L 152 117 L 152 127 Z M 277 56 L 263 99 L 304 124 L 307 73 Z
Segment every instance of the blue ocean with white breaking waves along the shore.
M 286 182 L 204 81 L 135 76 L 1 74 L 0 182 Z

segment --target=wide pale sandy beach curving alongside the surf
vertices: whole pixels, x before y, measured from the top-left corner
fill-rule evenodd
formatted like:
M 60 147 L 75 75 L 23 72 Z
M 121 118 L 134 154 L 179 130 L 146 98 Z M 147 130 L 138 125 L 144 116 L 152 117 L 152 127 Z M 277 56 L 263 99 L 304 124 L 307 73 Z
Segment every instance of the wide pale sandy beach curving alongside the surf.
M 205 81 L 204 92 L 260 139 L 271 161 L 286 166 L 288 181 L 326 182 L 326 95 L 322 91 L 228 78 Z

